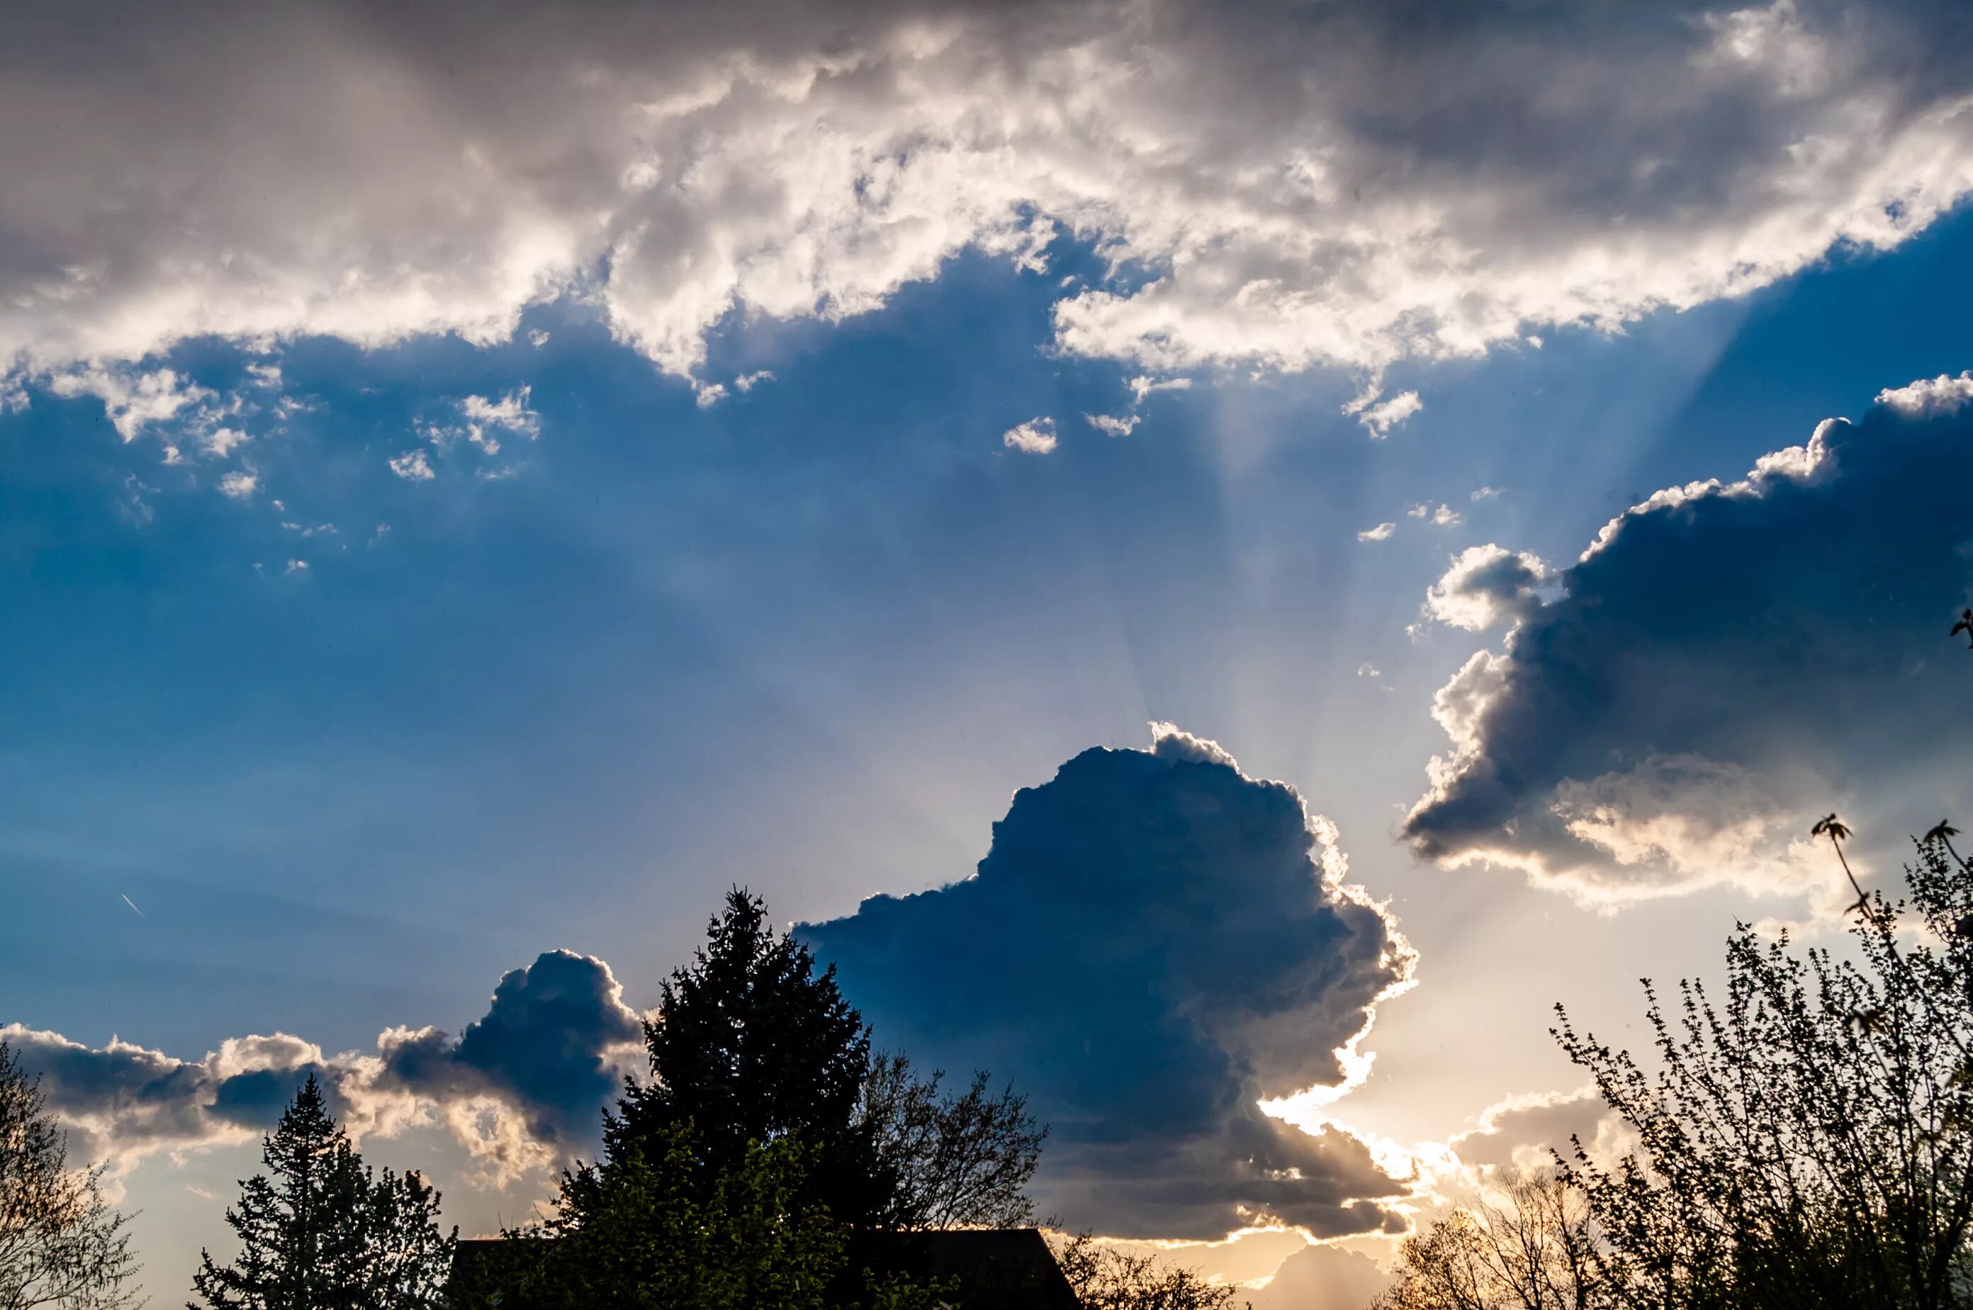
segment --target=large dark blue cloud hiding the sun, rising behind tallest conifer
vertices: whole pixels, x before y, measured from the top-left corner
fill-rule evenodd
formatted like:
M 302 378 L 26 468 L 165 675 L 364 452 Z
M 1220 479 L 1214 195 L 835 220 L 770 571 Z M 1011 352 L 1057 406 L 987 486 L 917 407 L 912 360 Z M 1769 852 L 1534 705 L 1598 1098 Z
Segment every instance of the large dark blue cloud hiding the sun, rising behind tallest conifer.
M 1113 1235 L 1395 1223 L 1340 1130 L 1261 1113 L 1346 1079 L 1413 955 L 1344 884 L 1334 825 L 1217 744 L 1154 726 L 1014 795 L 973 878 L 799 931 L 878 1038 L 990 1067 L 1050 1125 L 1044 1203 Z

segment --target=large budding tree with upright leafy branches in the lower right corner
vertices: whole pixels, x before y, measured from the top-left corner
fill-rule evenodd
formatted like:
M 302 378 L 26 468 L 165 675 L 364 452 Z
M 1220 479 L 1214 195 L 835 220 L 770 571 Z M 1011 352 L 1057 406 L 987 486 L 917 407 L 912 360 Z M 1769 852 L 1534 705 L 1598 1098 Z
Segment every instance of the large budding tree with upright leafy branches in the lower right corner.
M 1934 829 L 1908 882 L 1910 906 L 1859 894 L 1857 961 L 1740 925 L 1724 1004 L 1681 982 L 1667 1018 L 1645 984 L 1653 1073 L 1557 1006 L 1640 1140 L 1567 1172 L 1622 1304 L 1973 1304 L 1973 868 Z

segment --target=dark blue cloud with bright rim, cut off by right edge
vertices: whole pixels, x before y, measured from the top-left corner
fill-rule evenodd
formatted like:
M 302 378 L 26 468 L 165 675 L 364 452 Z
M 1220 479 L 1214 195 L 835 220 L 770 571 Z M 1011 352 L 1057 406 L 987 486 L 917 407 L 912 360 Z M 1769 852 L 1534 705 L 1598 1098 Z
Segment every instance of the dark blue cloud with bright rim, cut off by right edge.
M 1740 481 L 1634 505 L 1547 604 L 1529 556 L 1460 556 L 1474 566 L 1428 608 L 1515 627 L 1434 698 L 1452 746 L 1405 821 L 1413 848 L 1604 906 L 1736 886 L 1833 910 L 1843 874 L 1807 844 L 1813 817 L 1874 805 L 1857 827 L 1894 856 L 1900 825 L 1932 823 L 1890 819 L 1900 779 L 1924 777 L 1928 807 L 1965 801 L 1939 706 L 1967 679 L 1945 629 L 1973 598 L 1973 410 L 1884 395 Z

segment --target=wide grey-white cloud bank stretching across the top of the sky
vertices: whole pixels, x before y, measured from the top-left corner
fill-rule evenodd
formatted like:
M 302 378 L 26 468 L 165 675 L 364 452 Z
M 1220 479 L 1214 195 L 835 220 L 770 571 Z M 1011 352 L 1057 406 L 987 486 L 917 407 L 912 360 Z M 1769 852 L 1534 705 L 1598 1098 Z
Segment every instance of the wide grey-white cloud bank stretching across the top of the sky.
M 1377 373 L 1886 249 L 1973 185 L 1951 6 L 1488 12 L 166 0 L 0 51 L 0 361 L 176 339 L 507 339 L 594 306 L 691 373 L 730 318 L 842 320 L 961 251 L 1150 373 Z

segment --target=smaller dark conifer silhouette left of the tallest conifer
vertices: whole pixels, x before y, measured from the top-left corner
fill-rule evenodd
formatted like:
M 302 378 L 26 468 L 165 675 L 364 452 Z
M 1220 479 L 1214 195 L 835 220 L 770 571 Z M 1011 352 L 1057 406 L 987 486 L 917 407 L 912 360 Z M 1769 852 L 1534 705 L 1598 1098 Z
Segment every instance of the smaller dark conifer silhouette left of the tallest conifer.
M 454 1237 L 416 1174 L 375 1176 L 310 1075 L 262 1138 L 266 1174 L 241 1182 L 231 1265 L 201 1253 L 193 1294 L 211 1310 L 436 1310 Z M 456 1229 L 454 1229 L 456 1233 Z M 193 1302 L 189 1310 L 199 1310 Z

